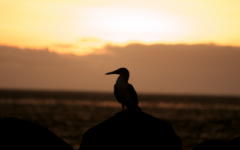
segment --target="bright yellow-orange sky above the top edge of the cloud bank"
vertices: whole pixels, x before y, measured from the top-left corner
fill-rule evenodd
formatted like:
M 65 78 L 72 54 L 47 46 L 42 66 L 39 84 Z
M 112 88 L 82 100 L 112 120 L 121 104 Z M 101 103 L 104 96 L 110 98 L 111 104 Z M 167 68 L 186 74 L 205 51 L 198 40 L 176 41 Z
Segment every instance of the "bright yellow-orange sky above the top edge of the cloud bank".
M 86 54 L 106 43 L 240 46 L 238 0 L 0 0 L 0 45 Z

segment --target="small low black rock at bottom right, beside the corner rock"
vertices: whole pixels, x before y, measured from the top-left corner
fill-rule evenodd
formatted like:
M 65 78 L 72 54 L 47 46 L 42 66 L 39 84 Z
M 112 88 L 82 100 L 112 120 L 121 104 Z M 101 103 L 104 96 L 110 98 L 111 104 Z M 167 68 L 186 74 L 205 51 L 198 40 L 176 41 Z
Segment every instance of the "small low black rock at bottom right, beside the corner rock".
M 198 144 L 193 150 L 225 150 L 225 142 L 221 140 L 209 140 Z

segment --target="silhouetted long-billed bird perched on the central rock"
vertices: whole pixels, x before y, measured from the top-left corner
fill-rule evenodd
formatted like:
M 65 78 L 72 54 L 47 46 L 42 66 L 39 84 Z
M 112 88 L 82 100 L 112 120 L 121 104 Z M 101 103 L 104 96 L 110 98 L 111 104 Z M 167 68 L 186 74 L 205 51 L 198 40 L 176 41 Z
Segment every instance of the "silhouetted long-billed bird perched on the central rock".
M 128 83 L 129 71 L 126 68 L 119 68 L 115 71 L 108 72 L 105 75 L 119 74 L 116 84 L 114 85 L 114 95 L 119 103 L 122 104 L 122 110 L 124 106 L 128 110 L 140 110 L 138 106 L 138 97 L 135 89 Z

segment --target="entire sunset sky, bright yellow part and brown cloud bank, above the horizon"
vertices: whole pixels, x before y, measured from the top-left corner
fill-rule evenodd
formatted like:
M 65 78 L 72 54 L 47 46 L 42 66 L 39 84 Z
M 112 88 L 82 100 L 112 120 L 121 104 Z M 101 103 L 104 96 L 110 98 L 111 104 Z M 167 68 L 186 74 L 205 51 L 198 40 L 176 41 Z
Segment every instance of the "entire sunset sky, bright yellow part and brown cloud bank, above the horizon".
M 240 96 L 239 0 L 0 0 L 0 88 Z

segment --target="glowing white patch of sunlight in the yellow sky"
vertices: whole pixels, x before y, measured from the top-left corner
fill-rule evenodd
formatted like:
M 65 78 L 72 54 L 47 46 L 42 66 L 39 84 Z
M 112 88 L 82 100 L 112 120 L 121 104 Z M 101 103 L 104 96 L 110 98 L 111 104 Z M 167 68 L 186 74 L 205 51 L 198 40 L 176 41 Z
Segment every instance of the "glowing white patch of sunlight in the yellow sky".
M 176 41 L 190 32 L 189 22 L 184 17 L 164 12 L 101 8 L 84 13 L 88 16 L 84 26 L 90 27 L 92 34 L 98 33 L 101 38 L 113 42 Z

